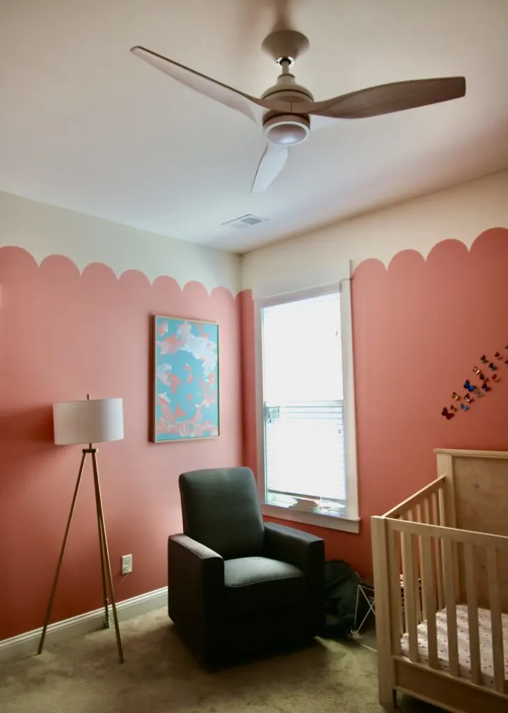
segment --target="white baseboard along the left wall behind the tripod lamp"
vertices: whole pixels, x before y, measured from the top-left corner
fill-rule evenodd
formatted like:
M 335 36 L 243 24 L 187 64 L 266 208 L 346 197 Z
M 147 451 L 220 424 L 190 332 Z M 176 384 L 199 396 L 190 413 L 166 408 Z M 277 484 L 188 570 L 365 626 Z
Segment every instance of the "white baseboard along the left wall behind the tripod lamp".
M 118 620 L 124 621 L 131 617 L 136 617 L 145 612 L 150 612 L 159 607 L 167 605 L 167 587 L 156 589 L 153 592 L 140 594 L 138 597 L 126 599 L 118 602 L 116 610 Z M 111 628 L 113 630 L 113 612 L 110 607 Z M 104 609 L 96 609 L 93 612 L 86 612 L 71 619 L 64 619 L 61 622 L 50 624 L 46 631 L 44 646 L 49 646 L 76 636 L 84 636 L 93 631 L 99 631 L 104 627 Z M 42 627 L 28 631 L 26 634 L 13 636 L 11 639 L 0 641 L 0 664 L 12 659 L 31 656 L 37 653 L 39 641 L 41 639 Z M 113 633 L 114 636 L 114 633 Z

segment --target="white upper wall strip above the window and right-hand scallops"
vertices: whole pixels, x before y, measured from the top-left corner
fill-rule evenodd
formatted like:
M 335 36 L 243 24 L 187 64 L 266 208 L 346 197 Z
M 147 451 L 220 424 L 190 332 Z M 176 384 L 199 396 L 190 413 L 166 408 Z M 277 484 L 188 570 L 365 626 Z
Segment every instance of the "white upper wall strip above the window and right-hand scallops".
M 242 289 L 263 294 L 266 284 L 290 284 L 295 275 L 301 284 L 332 282 L 348 260 L 388 265 L 408 248 L 427 257 L 447 238 L 470 247 L 490 227 L 508 227 L 508 170 L 254 250 L 244 256 Z

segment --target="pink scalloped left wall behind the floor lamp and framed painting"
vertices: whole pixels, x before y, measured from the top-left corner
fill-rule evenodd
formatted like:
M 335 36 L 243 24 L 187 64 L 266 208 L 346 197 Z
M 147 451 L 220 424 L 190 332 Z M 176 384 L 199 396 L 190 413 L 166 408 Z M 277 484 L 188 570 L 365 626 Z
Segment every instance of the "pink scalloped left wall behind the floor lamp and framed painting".
M 239 300 L 198 282 L 153 285 L 105 265 L 80 275 L 66 257 L 40 267 L 0 249 L 0 639 L 43 624 L 81 449 L 54 446 L 53 401 L 122 396 L 125 440 L 100 447 L 106 528 L 118 600 L 167 584 L 167 535 L 180 531 L 183 470 L 242 461 Z M 221 436 L 148 441 L 150 315 L 219 322 Z M 90 473 L 68 541 L 53 620 L 100 607 L 98 535 Z M 120 577 L 120 555 L 133 573 Z

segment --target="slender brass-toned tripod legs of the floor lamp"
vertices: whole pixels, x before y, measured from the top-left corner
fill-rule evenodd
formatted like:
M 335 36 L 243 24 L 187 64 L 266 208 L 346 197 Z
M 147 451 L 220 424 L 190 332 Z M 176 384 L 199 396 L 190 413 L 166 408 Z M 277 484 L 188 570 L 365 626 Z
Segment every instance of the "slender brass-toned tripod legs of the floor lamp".
M 63 562 L 63 555 L 66 551 L 67 538 L 69 530 L 71 529 L 71 522 L 74 514 L 74 508 L 76 506 L 76 498 L 78 497 L 79 486 L 81 484 L 81 476 L 83 475 L 83 467 L 85 465 L 86 456 L 90 455 L 92 458 L 92 471 L 93 471 L 93 485 L 95 490 L 95 509 L 97 511 L 97 525 L 99 531 L 99 550 L 100 550 L 100 573 L 103 583 L 103 602 L 104 602 L 104 628 L 109 629 L 111 627 L 110 622 L 110 602 L 111 608 L 113 610 L 113 620 L 115 622 L 115 635 L 116 644 L 118 648 L 118 658 L 120 663 L 123 663 L 123 649 L 122 640 L 120 638 L 120 627 L 118 625 L 118 614 L 116 610 L 115 602 L 115 590 L 113 588 L 113 575 L 111 573 L 111 563 L 108 549 L 108 539 L 106 538 L 106 529 L 104 523 L 104 511 L 103 511 L 103 501 L 102 495 L 100 493 L 100 481 L 99 481 L 99 470 L 97 465 L 97 453 L 98 448 L 93 448 L 92 443 L 90 443 L 89 448 L 83 448 L 83 455 L 81 456 L 81 465 L 78 471 L 78 480 L 76 481 L 76 488 L 74 489 L 73 499 L 71 503 L 71 511 L 69 512 L 67 526 L 65 534 L 63 535 L 62 547 L 60 550 L 60 556 L 58 558 L 58 564 L 56 565 L 55 578 L 53 580 L 53 586 L 51 588 L 51 594 L 49 596 L 48 608 L 46 610 L 46 619 L 44 621 L 44 626 L 41 635 L 41 642 L 38 646 L 38 654 L 43 650 L 44 639 L 46 638 L 46 630 L 48 629 L 49 620 L 51 618 L 51 610 L 53 609 L 53 601 L 55 599 L 56 588 L 58 585 L 58 578 L 60 576 L 60 570 Z M 109 589 L 109 597 L 108 597 Z

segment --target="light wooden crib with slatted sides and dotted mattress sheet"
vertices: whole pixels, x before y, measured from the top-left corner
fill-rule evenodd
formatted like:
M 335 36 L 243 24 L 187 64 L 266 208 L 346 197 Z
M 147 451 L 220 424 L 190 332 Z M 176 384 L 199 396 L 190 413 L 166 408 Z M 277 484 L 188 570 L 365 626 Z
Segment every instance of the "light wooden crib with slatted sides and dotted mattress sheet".
M 372 518 L 380 703 L 508 711 L 508 453 L 437 450 L 438 478 Z

